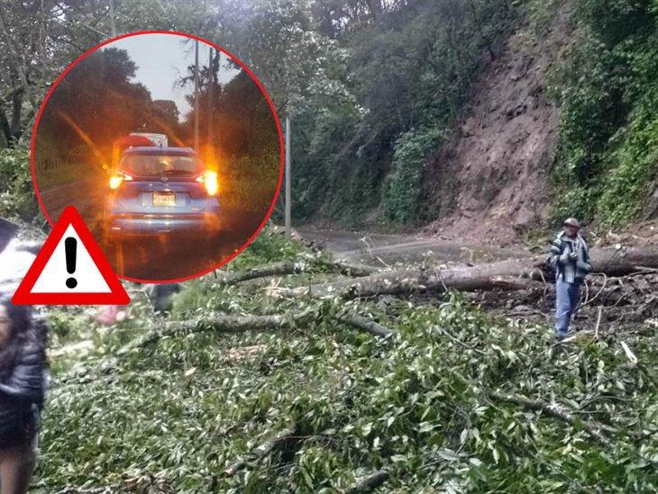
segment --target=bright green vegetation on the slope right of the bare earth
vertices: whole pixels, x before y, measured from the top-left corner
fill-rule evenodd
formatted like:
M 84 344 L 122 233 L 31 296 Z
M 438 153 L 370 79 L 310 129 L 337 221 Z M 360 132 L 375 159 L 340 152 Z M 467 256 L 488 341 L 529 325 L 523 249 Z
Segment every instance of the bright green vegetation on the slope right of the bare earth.
M 658 4 L 576 2 L 579 39 L 556 72 L 557 215 L 618 227 L 653 217 L 658 163 Z M 648 202 L 648 203 L 647 203 Z

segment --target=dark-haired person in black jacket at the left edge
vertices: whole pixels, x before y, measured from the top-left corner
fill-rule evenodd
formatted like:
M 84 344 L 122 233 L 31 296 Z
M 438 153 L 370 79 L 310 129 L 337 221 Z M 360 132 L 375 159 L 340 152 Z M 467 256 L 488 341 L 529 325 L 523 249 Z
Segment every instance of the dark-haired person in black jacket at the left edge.
M 28 491 L 47 386 L 45 330 L 0 296 L 0 493 Z

